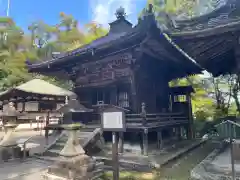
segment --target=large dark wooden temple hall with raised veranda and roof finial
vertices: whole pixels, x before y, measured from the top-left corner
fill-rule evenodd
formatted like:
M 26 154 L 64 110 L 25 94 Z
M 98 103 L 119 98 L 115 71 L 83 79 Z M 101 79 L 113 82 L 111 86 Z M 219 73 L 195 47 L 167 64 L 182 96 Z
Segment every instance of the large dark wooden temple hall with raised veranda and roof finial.
M 193 89 L 170 87 L 169 82 L 199 74 L 201 67 L 162 33 L 152 6 L 134 27 L 123 8 L 109 25 L 108 34 L 90 44 L 50 60 L 27 62 L 29 72 L 72 80 L 80 103 L 94 109 L 89 123 L 99 122 L 95 115 L 106 106 L 127 109 L 125 134 L 141 133 L 145 154 L 148 139 L 161 145 L 162 138 L 180 129 L 193 137 Z

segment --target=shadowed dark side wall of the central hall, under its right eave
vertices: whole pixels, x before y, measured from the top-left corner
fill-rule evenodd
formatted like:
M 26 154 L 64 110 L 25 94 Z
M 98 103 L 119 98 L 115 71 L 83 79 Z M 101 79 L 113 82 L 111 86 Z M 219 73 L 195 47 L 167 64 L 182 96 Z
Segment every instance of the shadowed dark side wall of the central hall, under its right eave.
M 141 60 L 140 68 L 135 72 L 139 106 L 144 102 L 149 113 L 167 111 L 169 107 L 168 78 L 164 72 L 161 73 L 155 59 L 147 56 L 144 58 Z

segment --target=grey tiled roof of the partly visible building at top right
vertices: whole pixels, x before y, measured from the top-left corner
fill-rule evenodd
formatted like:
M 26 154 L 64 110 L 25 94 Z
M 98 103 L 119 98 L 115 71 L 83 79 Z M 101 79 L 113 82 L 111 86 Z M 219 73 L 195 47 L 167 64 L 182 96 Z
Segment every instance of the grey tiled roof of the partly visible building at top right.
M 240 24 L 240 1 L 227 0 L 225 5 L 207 14 L 191 19 L 175 21 L 172 19 L 170 21 L 173 21 L 172 24 L 174 24 L 174 27 L 168 27 L 170 33 L 180 36 L 194 33 L 198 34 L 199 32 L 205 32 L 213 28 L 223 29 L 229 26 L 238 26 Z

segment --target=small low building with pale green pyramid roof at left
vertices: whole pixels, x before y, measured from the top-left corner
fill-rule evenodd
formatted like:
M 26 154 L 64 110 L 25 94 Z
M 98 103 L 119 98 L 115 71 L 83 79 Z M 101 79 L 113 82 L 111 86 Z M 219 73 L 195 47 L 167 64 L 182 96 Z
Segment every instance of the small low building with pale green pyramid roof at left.
M 36 117 L 46 116 L 51 111 L 51 117 L 60 117 L 56 110 L 65 103 L 67 97 L 76 96 L 75 93 L 52 85 L 41 79 L 33 79 L 17 87 L 0 93 L 2 109 L 8 102 L 14 102 L 16 110 L 25 112 L 19 117 L 25 123 L 36 120 Z

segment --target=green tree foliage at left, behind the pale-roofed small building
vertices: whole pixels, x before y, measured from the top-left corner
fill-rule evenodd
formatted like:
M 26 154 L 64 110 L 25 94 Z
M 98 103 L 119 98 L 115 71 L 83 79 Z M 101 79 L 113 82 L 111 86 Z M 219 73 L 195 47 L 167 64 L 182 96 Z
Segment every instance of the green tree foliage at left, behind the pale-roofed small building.
M 36 21 L 28 30 L 30 35 L 25 35 L 11 18 L 0 17 L 0 91 L 36 77 L 36 74 L 27 72 L 26 60 L 51 59 L 53 52 L 76 49 L 107 33 L 97 23 L 90 23 L 80 30 L 74 17 L 65 13 L 60 14 L 58 25 Z M 65 88 L 71 87 L 70 82 L 40 78 Z

